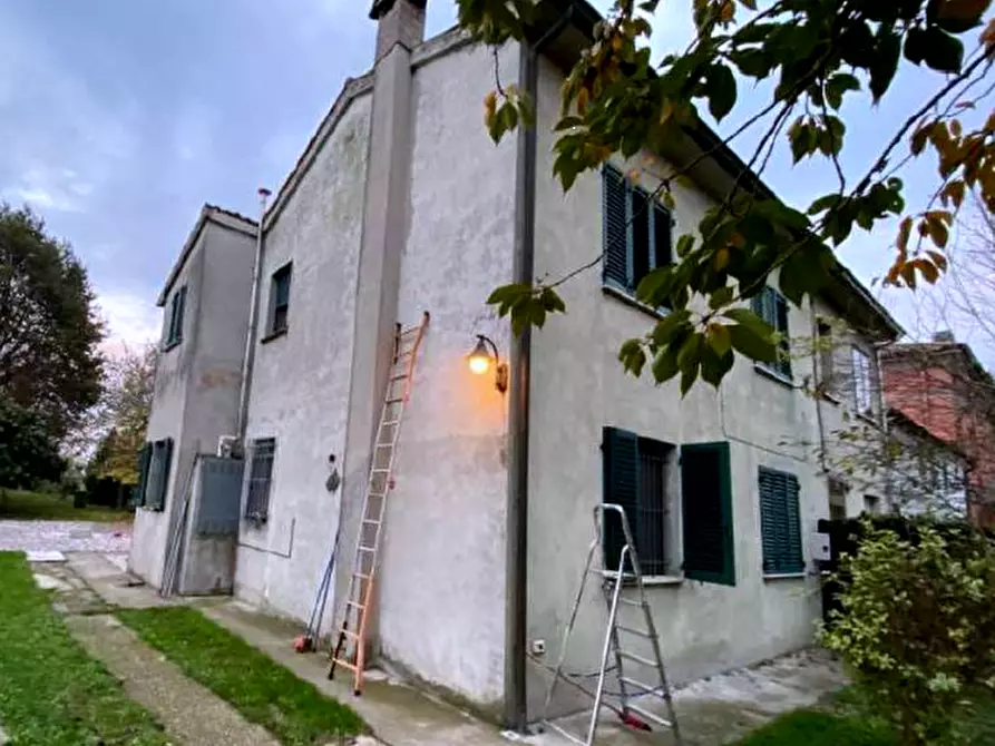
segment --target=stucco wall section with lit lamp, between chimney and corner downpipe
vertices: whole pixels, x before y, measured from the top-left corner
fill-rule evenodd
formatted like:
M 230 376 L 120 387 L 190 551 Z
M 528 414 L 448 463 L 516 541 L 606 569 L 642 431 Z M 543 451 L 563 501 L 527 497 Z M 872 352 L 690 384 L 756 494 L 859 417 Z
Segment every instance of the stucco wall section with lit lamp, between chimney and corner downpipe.
M 466 355 L 507 324 L 485 300 L 511 277 L 515 141 L 495 146 L 480 101 L 489 50 L 465 47 L 414 73 L 410 233 L 399 321 L 431 314 L 397 452 L 380 583 L 382 652 L 480 706 L 504 681 L 506 402 Z M 517 50 L 501 55 L 517 75 Z

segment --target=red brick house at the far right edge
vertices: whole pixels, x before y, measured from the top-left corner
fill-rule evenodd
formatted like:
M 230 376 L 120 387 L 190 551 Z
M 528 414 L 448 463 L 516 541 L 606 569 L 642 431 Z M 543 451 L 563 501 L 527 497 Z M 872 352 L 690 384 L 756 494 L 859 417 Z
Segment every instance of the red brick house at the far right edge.
M 995 522 L 995 384 L 970 347 L 949 332 L 881 351 L 888 403 L 967 459 L 975 520 Z

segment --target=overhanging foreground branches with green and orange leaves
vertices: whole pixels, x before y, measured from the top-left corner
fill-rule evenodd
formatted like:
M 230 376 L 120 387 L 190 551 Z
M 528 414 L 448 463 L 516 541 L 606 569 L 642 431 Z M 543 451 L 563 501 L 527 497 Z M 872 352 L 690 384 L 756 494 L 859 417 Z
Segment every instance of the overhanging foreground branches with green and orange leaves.
M 535 0 L 458 4 L 460 23 L 479 41 L 499 46 L 536 38 Z M 753 137 L 725 199 L 706 212 L 695 232 L 677 239 L 676 263 L 641 282 L 641 301 L 673 311 L 646 335 L 623 344 L 620 359 L 628 371 L 638 375 L 651 362 L 654 379 L 680 373 L 686 391 L 699 375 L 718 385 L 737 352 L 773 359 L 772 331 L 739 302 L 758 294 L 777 272 L 781 292 L 800 304 L 829 281 L 836 264 L 829 245 L 843 243 L 855 225 L 872 230 L 904 216 L 887 282 L 915 288 L 921 279 L 938 278 L 948 265 L 949 226 L 965 193 L 977 189 L 985 209 L 995 208 L 995 114 L 984 108 L 993 92 L 985 76 L 995 52 L 995 20 L 985 18 L 989 4 L 778 0 L 759 8 L 755 0 L 692 0 L 696 36 L 683 52 L 654 60 L 653 24 L 665 22 L 660 0 L 615 0 L 563 87 L 554 171 L 565 190 L 613 154 L 662 153 L 666 143 L 701 126 L 699 104 L 721 122 L 738 102 L 740 80 L 773 84 L 768 100 L 721 145 L 663 175 L 655 196 L 672 205 L 672 185 L 692 166 L 744 132 Z M 845 117 L 860 109 L 850 106 L 845 115 L 843 100 L 860 101 L 870 116 L 903 65 L 933 71 L 936 82 L 923 88 L 907 119 L 891 125 L 892 136 L 866 167 L 848 174 L 840 158 Z M 511 86 L 498 85 L 485 107 L 495 140 L 531 120 L 533 102 Z M 751 171 L 763 173 L 781 143 L 796 163 L 825 157 L 833 166 L 836 184 L 804 213 L 749 178 Z M 935 189 L 906 214 L 899 177 L 927 149 L 937 161 Z M 548 313 L 564 310 L 556 287 L 601 259 L 582 258 L 585 264 L 564 277 L 504 286 L 489 302 L 500 315 L 510 315 L 515 333 L 527 324 L 542 326 Z M 692 304 L 695 296 L 706 303 Z

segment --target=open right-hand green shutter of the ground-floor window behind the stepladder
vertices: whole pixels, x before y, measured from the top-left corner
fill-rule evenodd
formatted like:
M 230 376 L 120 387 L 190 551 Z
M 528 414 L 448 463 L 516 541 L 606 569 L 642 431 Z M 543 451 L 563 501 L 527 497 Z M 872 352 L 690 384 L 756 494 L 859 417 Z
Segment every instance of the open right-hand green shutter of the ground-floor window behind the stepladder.
M 735 585 L 729 443 L 681 446 L 684 576 Z

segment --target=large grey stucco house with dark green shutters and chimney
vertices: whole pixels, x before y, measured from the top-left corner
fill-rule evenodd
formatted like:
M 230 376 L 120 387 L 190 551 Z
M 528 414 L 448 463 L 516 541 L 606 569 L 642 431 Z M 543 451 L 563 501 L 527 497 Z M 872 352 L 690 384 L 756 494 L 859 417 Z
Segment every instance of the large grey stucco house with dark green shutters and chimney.
M 231 588 L 306 619 L 338 536 L 329 630 L 396 325 L 428 311 L 387 509 L 373 647 L 513 725 L 538 714 L 540 664 L 558 656 L 604 500 L 624 503 L 635 526 L 675 681 L 811 640 L 812 534 L 830 512 L 820 454 L 838 445 L 832 425 L 849 409 L 882 425 L 874 351 L 900 334 L 840 269 L 812 304 L 790 306 L 773 287 L 757 302 L 792 341 L 790 360 L 740 360 L 718 392 L 698 385 L 683 399 L 675 382 L 626 375 L 618 344 L 660 313 L 634 300 L 640 272 L 669 262 L 674 232 L 696 225 L 745 166 L 719 147 L 677 187 L 672 210 L 647 202 L 660 166 L 640 160 L 613 159 L 564 195 L 552 176 L 552 126 L 564 70 L 597 14 L 581 0 L 539 8 L 553 29 L 542 53 L 509 43 L 495 57 L 459 30 L 423 40 L 425 0 L 377 0 L 372 70 L 345 82 L 260 220 L 202 215 L 160 298 L 172 320 L 172 298 L 187 288 L 183 338 L 165 335 L 160 372 L 176 382 L 157 382 L 149 426 L 153 449 L 172 439 L 176 455 L 153 451 L 131 554 L 153 585 L 175 576 L 186 592 Z M 528 131 L 495 146 L 482 126 L 496 61 L 505 79 L 536 88 L 535 148 Z M 656 163 L 686 163 L 716 143 L 694 130 Z M 622 177 L 633 167 L 640 185 Z M 765 189 L 755 178 L 752 188 Z M 642 215 L 636 230 L 618 209 Z M 231 244 L 231 276 L 183 279 L 211 266 L 204 249 L 215 241 Z M 605 248 L 599 269 L 563 286 L 568 313 L 542 331 L 513 340 L 485 307 L 498 285 L 558 276 Z M 237 292 L 223 293 L 223 282 Z M 222 296 L 224 308 L 211 305 Z M 837 330 L 829 354 L 811 342 L 820 323 Z M 507 393 L 468 371 L 478 334 L 509 363 Z M 224 375 L 205 379 L 215 369 Z M 204 396 L 217 404 L 213 430 L 187 424 L 206 414 Z M 220 469 L 209 455 L 218 443 L 244 464 L 234 512 L 194 465 Z M 225 479 L 216 494 L 230 495 Z M 862 490 L 840 482 L 848 510 Z M 215 528 L 192 529 L 205 514 Z M 595 667 L 603 624 L 593 600 L 581 609 L 568 668 Z

